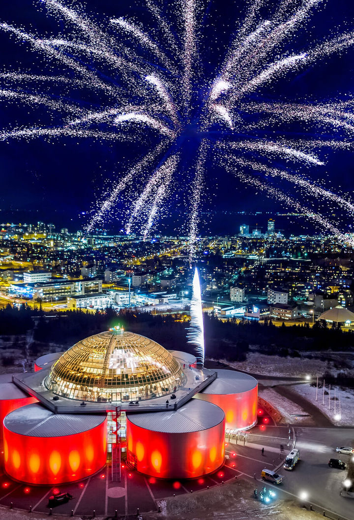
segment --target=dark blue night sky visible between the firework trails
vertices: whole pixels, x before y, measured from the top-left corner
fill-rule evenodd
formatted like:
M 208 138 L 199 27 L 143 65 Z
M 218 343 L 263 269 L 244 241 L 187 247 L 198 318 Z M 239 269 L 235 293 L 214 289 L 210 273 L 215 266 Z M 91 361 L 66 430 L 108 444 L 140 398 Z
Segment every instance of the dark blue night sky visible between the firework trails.
M 278 4 L 271 0 L 267 3 L 273 6 Z M 201 84 L 208 82 L 217 70 L 217 63 L 220 63 L 220 57 L 225 55 L 225 49 L 236 27 L 235 23 L 244 12 L 245 6 L 243 0 L 213 0 L 205 1 L 204 4 L 207 8 L 200 24 L 199 47 L 200 61 L 203 64 Z M 86 12 L 101 21 L 107 17 L 119 16 L 147 23 L 150 20 L 143 2 L 140 1 L 128 4 L 117 0 L 89 0 L 83 2 L 83 5 Z M 165 5 L 167 6 L 168 2 L 165 2 Z M 58 19 L 47 16 L 46 10 L 40 8 L 40 2 L 35 0 L 2 2 L 0 12 L 2 22 L 12 23 L 29 32 L 44 36 L 71 33 L 71 28 L 64 21 L 58 22 Z M 173 22 L 172 15 L 168 16 Z M 306 28 L 301 28 L 290 42 L 289 52 L 300 53 L 307 49 L 311 42 L 321 42 L 337 32 L 353 30 L 352 0 L 324 1 L 323 7 L 315 10 Z M 48 70 L 48 74 L 67 73 L 72 77 L 72 72 L 65 71 L 65 68 L 55 61 L 46 69 L 43 56 L 3 31 L 0 31 L 0 48 L 3 71 L 31 71 L 33 74 L 39 74 Z M 8 88 L 9 84 L 5 86 Z M 331 99 L 352 97 L 353 87 L 354 46 L 342 54 L 334 54 L 308 68 L 287 74 L 283 79 L 272 83 L 271 87 L 262 88 L 255 96 L 262 96 L 265 101 L 316 99 L 327 102 Z M 26 92 L 25 88 L 23 92 Z M 46 94 L 48 92 L 46 89 Z M 54 89 L 53 93 L 60 96 L 59 90 Z M 87 106 L 98 109 L 105 103 L 99 94 L 86 96 L 82 89 L 73 89 L 71 95 L 73 100 L 82 101 L 84 105 L 86 103 Z M 0 103 L 0 125 L 6 131 L 22 126 L 55 126 L 62 121 L 60 116 L 38 106 L 19 106 L 2 100 Z M 289 135 L 294 136 L 297 132 L 299 137 L 304 136 L 298 125 L 289 128 Z M 318 137 L 316 128 L 307 129 L 306 136 Z M 331 138 L 330 131 L 325 137 Z M 127 167 L 134 163 L 137 154 L 141 154 L 142 151 L 140 142 L 118 144 L 69 137 L 52 139 L 50 142 L 42 137 L 29 141 L 12 139 L 0 142 L 0 220 L 10 218 L 11 214 L 13 220 L 18 220 L 18 211 L 21 219 L 27 216 L 28 221 L 32 222 L 37 219 L 47 222 L 53 220 L 59 226 L 76 228 L 78 215 L 92 210 L 93 202 L 100 198 L 104 190 L 109 189 L 119 175 L 125 173 Z M 185 153 L 184 160 L 187 161 L 188 150 Z M 321 157 L 325 157 L 326 160 L 325 166 L 307 170 L 308 175 L 314 179 L 325 179 L 325 186 L 334 191 L 351 193 L 354 188 L 354 150 L 333 152 L 326 149 L 321 153 Z M 280 167 L 283 163 L 275 161 L 275 165 Z M 277 201 L 266 198 L 264 194 L 256 193 L 254 188 L 244 187 L 212 160 L 208 164 L 207 184 L 203 210 L 210 209 L 215 211 L 216 215 L 224 210 L 275 213 L 286 209 Z M 339 216 L 341 210 L 335 211 Z M 174 210 L 172 208 L 170 222 L 176 221 L 178 213 L 181 213 L 181 210 L 177 207 Z M 81 215 L 79 222 L 84 225 L 86 218 L 86 215 Z M 185 218 L 184 213 L 180 214 L 180 218 Z M 347 227 L 351 224 L 349 218 L 343 219 L 342 222 L 344 230 L 350 229 Z M 226 223 L 225 225 L 232 226 Z M 117 222 L 113 222 L 112 228 L 117 228 Z

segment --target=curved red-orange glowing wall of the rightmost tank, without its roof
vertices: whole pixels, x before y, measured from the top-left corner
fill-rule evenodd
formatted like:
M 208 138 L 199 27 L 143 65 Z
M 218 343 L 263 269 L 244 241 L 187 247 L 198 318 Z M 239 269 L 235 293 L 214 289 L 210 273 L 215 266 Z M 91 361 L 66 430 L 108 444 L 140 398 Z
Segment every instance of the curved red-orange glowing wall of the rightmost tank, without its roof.
M 257 420 L 258 385 L 240 394 L 196 394 L 196 399 L 212 402 L 225 413 L 225 427 L 231 430 L 250 428 Z

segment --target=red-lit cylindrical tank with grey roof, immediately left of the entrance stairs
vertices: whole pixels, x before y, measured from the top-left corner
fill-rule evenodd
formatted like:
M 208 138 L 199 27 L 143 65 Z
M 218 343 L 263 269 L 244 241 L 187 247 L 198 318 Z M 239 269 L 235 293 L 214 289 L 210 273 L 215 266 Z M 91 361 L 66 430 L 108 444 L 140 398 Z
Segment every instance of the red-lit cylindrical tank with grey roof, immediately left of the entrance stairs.
M 4 420 L 5 471 L 28 484 L 88 477 L 106 463 L 106 436 L 106 414 L 53 414 L 39 404 L 20 408 Z

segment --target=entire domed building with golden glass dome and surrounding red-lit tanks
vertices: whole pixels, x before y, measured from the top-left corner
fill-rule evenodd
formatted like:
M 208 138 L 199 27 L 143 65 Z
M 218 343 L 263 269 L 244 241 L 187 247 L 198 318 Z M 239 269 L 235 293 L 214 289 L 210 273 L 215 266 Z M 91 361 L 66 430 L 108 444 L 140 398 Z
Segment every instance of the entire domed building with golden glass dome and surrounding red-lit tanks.
M 113 474 L 121 454 L 145 475 L 199 477 L 224 464 L 225 430 L 256 423 L 254 378 L 119 327 L 0 383 L 5 471 L 29 484 L 88 477 L 107 457 Z

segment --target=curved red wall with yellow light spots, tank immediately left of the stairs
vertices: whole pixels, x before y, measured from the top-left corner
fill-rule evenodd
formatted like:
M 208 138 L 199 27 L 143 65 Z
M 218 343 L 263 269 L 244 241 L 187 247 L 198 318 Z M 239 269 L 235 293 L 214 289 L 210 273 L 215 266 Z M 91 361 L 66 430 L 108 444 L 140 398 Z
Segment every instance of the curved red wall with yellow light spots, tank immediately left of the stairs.
M 83 433 L 31 437 L 4 426 L 5 471 L 28 484 L 61 484 L 88 477 L 106 463 L 107 419 Z

